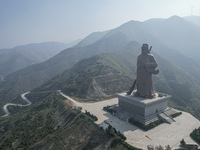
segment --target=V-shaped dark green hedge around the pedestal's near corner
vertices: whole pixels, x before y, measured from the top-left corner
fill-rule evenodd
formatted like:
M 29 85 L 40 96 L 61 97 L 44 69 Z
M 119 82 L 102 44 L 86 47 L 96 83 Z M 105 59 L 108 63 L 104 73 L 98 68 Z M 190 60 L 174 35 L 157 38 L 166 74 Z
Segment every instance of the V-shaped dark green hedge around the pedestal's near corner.
M 149 123 L 148 125 L 144 125 L 144 124 L 142 124 L 142 123 L 140 123 L 138 121 L 135 121 L 133 118 L 130 118 L 129 122 L 132 123 L 133 125 L 136 125 L 136 126 L 142 128 L 145 131 L 148 131 L 148 130 L 152 129 L 152 128 L 160 125 L 161 123 L 164 123 L 163 119 L 159 119 L 157 121 Z

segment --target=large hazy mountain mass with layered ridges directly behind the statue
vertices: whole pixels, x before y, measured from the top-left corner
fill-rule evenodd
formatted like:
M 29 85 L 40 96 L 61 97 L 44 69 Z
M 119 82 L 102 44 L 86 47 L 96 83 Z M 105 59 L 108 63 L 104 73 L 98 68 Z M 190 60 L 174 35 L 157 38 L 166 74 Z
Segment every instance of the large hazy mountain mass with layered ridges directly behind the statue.
M 42 63 L 5 76 L 0 83 L 1 106 L 36 87 L 36 91 L 62 89 L 82 99 L 126 91 L 136 76 L 141 44 L 148 43 L 153 46 L 152 53 L 158 58 L 161 70 L 154 77 L 156 90 L 172 94 L 172 105 L 188 107 L 190 112 L 198 114 L 199 32 L 200 27 L 191 21 L 172 16 L 130 21 L 112 30 L 92 33 Z

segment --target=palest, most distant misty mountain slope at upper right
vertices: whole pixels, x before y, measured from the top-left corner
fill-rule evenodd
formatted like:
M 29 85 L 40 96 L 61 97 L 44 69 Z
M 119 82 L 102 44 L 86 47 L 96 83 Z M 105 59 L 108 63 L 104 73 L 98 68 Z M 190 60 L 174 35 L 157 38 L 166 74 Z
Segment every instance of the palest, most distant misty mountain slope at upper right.
M 199 26 L 187 22 L 184 18 L 173 16 L 167 20 L 159 19 L 144 22 L 149 31 L 162 43 L 190 58 L 199 59 Z

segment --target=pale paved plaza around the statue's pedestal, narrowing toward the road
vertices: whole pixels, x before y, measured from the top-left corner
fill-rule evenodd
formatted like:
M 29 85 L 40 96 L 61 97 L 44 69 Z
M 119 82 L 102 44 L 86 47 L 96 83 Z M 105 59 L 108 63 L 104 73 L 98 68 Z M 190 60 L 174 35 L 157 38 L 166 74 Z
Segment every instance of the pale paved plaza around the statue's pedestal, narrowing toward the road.
M 108 126 L 107 123 L 111 124 L 116 130 L 119 130 L 127 137 L 127 143 L 135 147 L 147 149 L 147 145 L 153 145 L 154 147 L 157 145 L 170 145 L 172 149 L 175 149 L 179 147 L 182 139 L 185 139 L 187 144 L 196 144 L 190 138 L 189 134 L 193 129 L 200 126 L 200 121 L 189 113 L 183 112 L 182 115 L 175 118 L 176 122 L 172 124 L 163 123 L 154 129 L 143 131 L 102 110 L 104 106 L 118 104 L 117 98 L 97 103 L 79 103 L 74 100 L 72 101 L 81 106 L 83 112 L 87 110 L 97 116 L 98 121 L 96 123 L 100 126 L 106 128 Z

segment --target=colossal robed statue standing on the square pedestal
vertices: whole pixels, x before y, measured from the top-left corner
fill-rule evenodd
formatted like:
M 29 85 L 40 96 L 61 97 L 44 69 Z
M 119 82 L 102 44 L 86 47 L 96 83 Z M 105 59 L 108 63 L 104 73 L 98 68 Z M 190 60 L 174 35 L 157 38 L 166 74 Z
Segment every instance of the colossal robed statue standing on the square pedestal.
M 152 74 L 158 74 L 159 70 L 156 69 L 158 64 L 155 57 L 150 54 L 151 48 L 148 48 L 148 44 L 143 44 L 141 47 L 142 54 L 140 54 L 137 58 L 137 79 L 127 92 L 128 95 L 132 93 L 135 85 L 137 85 L 137 92 L 135 96 L 144 98 L 153 98 L 155 96 Z

